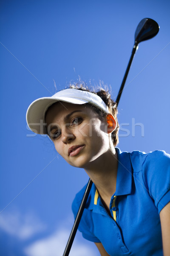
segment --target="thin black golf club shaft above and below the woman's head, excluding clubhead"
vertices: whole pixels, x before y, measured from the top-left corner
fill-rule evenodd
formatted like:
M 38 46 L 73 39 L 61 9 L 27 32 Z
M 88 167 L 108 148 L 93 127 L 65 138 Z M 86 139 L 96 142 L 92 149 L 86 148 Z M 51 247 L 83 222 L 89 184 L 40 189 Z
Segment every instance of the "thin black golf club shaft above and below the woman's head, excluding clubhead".
M 129 63 L 128 63 L 128 65 L 127 65 L 127 69 L 126 69 L 126 72 L 125 72 L 125 76 L 124 76 L 124 78 L 123 78 L 121 87 L 120 87 L 120 89 L 119 89 L 118 96 L 117 96 L 117 98 L 116 98 L 116 105 L 117 105 L 117 106 L 118 106 L 118 104 L 119 104 L 119 100 L 120 100 L 120 97 L 121 97 L 121 95 L 122 95 L 123 87 L 124 87 L 124 85 L 125 85 L 125 81 L 126 81 L 126 79 L 127 79 L 127 75 L 128 75 L 129 70 L 130 70 L 130 65 L 131 65 L 131 63 L 132 63 L 132 60 L 133 60 L 133 57 L 134 57 L 134 55 L 135 55 L 136 49 L 137 49 L 137 45 L 134 44 L 133 50 L 132 50 L 132 54 L 131 54 L 131 56 L 130 56 L 130 60 L 129 60 Z M 81 202 L 81 204 L 80 204 L 79 211 L 78 211 L 77 216 L 76 216 L 76 219 L 75 219 L 75 221 L 74 221 L 74 225 L 73 225 L 73 228 L 72 228 L 72 230 L 71 230 L 71 234 L 70 234 L 70 236 L 69 236 L 69 239 L 68 239 L 67 245 L 66 245 L 66 247 L 65 247 L 65 251 L 64 251 L 64 253 L 63 253 L 63 256 L 68 256 L 69 253 L 70 253 L 71 246 L 72 246 L 72 244 L 73 244 L 74 237 L 75 237 L 75 235 L 76 235 L 76 232 L 77 232 L 77 229 L 78 229 L 78 226 L 79 226 L 79 222 L 80 222 L 80 220 L 81 220 L 81 218 L 82 218 L 82 213 L 83 213 L 83 210 L 84 210 L 84 208 L 85 208 L 85 204 L 86 204 L 86 201 L 87 201 L 87 199 L 88 199 L 88 195 L 89 195 L 89 193 L 90 193 L 92 184 L 93 184 L 93 182 L 91 181 L 91 179 L 89 179 L 88 185 L 87 185 L 86 190 L 85 190 L 85 194 L 84 194 L 84 196 L 83 196 L 83 198 L 82 198 L 82 202 Z

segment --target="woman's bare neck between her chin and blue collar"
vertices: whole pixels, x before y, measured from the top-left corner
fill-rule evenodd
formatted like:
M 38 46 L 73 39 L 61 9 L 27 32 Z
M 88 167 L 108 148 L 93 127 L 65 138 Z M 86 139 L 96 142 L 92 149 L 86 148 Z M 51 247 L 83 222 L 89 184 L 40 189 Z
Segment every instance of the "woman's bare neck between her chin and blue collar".
M 110 199 L 116 191 L 117 166 L 117 153 L 113 148 L 85 169 L 103 200 Z

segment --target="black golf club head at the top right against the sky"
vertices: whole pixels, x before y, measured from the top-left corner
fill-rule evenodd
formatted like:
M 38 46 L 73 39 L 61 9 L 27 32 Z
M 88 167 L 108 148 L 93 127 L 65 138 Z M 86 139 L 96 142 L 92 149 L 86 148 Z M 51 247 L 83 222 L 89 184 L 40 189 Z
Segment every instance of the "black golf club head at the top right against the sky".
M 135 31 L 135 44 L 153 38 L 159 32 L 159 25 L 155 20 L 144 18 L 139 22 Z

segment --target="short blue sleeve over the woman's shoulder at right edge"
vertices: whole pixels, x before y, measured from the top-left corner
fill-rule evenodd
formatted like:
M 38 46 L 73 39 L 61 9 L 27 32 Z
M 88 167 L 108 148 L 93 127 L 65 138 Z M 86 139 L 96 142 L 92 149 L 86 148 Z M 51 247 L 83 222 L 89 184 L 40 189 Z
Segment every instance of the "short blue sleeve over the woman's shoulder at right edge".
M 170 155 L 165 151 L 153 151 L 143 165 L 143 179 L 160 213 L 170 202 Z

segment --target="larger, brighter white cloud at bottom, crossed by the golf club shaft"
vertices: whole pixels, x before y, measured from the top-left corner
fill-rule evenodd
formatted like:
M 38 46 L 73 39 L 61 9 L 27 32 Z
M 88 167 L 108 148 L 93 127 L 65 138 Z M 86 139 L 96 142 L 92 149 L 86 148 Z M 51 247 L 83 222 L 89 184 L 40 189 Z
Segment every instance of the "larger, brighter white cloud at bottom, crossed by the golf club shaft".
M 69 231 L 60 229 L 51 236 L 38 240 L 25 249 L 26 256 L 61 256 L 69 237 Z M 69 256 L 97 256 L 95 249 L 74 240 Z

